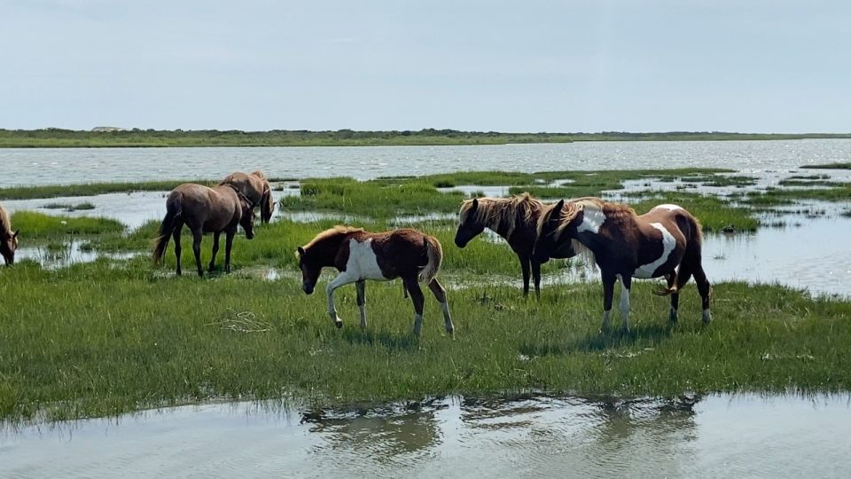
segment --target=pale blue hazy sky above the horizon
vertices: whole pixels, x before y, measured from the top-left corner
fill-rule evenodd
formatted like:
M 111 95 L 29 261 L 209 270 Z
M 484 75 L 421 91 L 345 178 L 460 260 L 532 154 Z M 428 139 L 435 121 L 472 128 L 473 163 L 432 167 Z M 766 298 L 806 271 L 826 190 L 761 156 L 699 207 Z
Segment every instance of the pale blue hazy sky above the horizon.
M 0 0 L 0 128 L 851 132 L 851 2 Z

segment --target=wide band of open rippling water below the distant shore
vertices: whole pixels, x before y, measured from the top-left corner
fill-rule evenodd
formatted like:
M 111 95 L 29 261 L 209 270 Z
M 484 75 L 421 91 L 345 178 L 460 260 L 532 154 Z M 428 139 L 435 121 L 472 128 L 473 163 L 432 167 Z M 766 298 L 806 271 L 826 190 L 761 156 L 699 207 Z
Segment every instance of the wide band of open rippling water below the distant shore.
M 851 139 L 577 142 L 488 146 L 0 149 L 0 187 L 223 177 L 262 169 L 271 177 L 371 178 L 458 170 L 665 169 L 762 171 L 851 161 Z

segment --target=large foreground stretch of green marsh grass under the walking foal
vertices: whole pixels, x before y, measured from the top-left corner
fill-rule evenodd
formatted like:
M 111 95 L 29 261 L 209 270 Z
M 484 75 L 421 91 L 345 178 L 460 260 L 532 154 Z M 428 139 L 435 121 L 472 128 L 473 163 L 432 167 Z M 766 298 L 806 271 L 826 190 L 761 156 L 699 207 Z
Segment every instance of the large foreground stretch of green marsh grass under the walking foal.
M 0 418 L 235 397 L 341 405 L 529 389 L 669 397 L 851 388 L 851 371 L 839 366 L 851 361 L 851 304 L 782 287 L 716 285 L 714 323 L 703 326 L 691 286 L 680 324 L 670 326 L 667 299 L 638 282 L 633 331 L 622 336 L 597 332 L 597 284 L 547 287 L 540 302 L 481 284 L 449 291 L 455 340 L 441 333 L 431 298 L 417 339 L 398 282 L 368 283 L 365 330 L 356 326 L 354 287 L 341 289 L 346 325 L 337 330 L 324 294 L 302 294 L 298 279 L 162 278 L 145 264 L 0 271 Z M 262 331 L 234 331 L 242 312 Z

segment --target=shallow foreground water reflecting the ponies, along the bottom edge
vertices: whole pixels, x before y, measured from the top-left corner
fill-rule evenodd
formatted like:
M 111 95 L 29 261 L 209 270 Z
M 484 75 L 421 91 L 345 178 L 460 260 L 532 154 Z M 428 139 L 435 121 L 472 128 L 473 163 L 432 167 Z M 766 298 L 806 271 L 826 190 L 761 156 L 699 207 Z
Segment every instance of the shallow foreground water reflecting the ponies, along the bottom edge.
M 843 396 L 532 397 L 315 412 L 205 404 L 0 433 L 0 475 L 844 476 Z

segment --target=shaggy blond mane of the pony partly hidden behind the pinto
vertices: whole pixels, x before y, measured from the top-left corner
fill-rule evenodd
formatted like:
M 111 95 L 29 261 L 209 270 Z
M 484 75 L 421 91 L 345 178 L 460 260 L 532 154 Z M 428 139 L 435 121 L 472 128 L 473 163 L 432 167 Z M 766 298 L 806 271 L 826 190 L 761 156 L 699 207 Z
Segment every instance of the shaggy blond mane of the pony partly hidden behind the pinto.
M 477 198 L 476 200 L 479 208 L 476 209 L 473 220 L 494 231 L 505 227 L 507 236 L 511 236 L 517 228 L 518 217 L 526 224 L 531 223 L 535 213 L 544 207 L 541 200 L 533 198 L 529 193 L 518 194 L 511 198 Z M 472 199 L 461 203 L 461 210 L 458 211 L 458 221 L 461 224 L 467 221 L 471 209 Z

